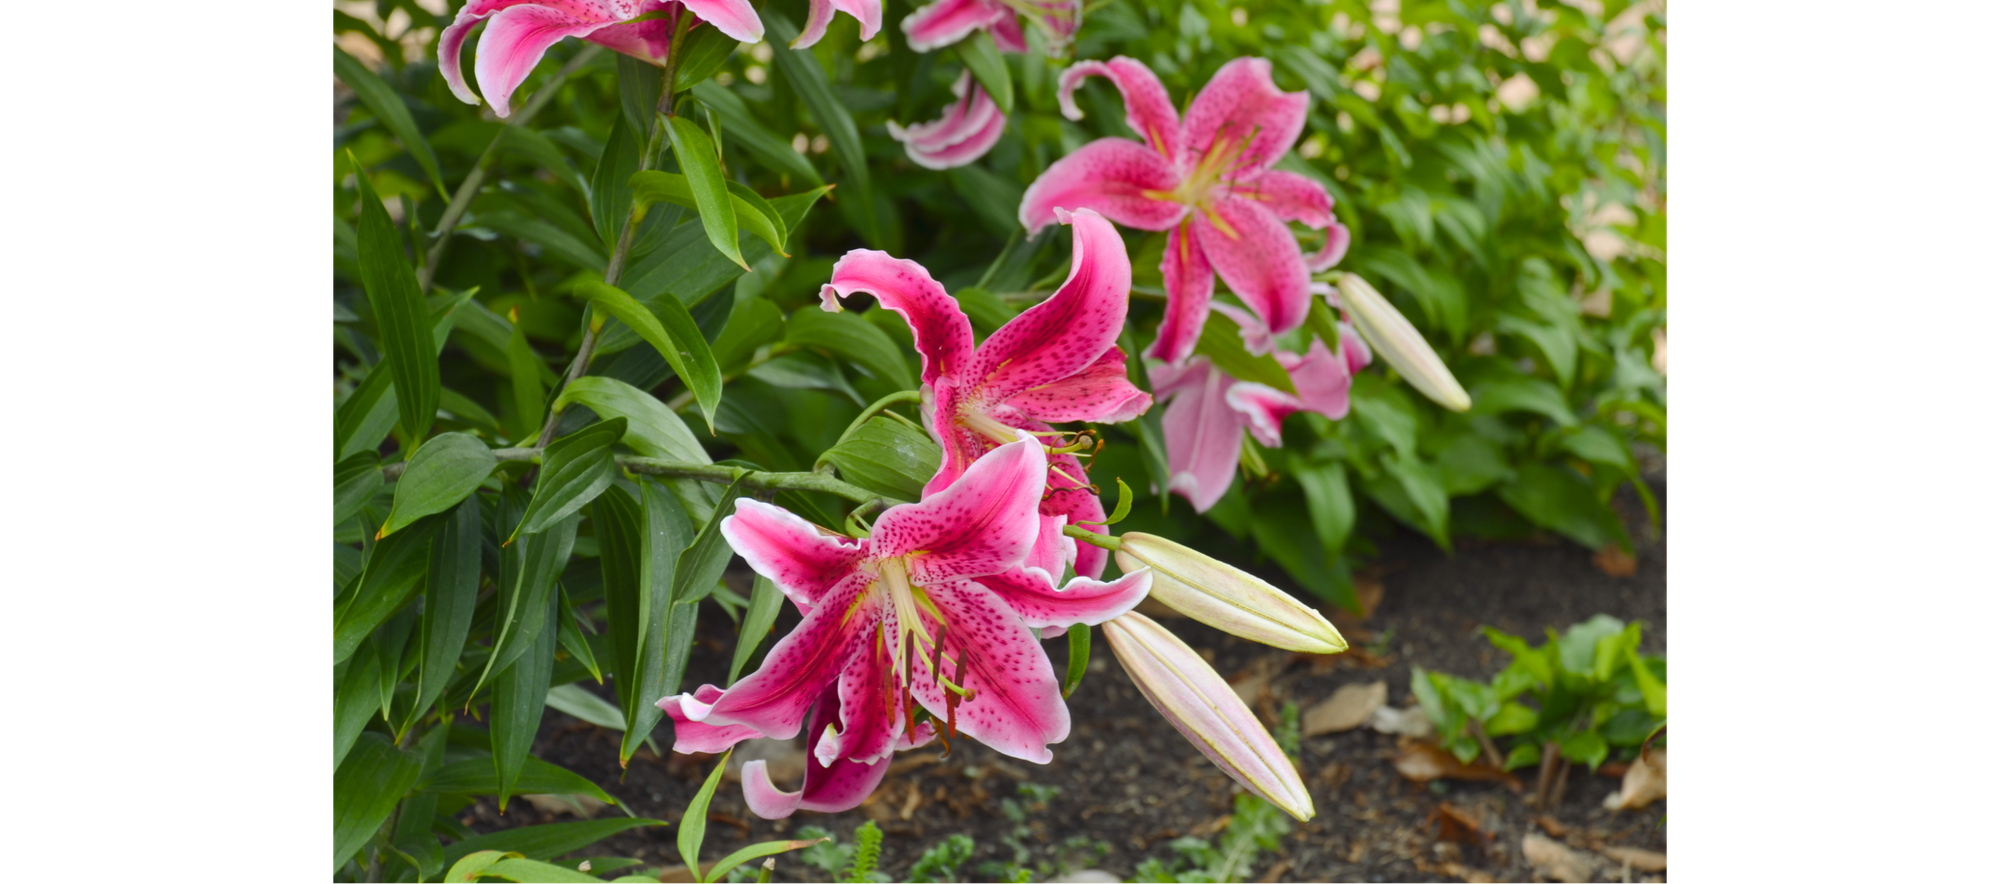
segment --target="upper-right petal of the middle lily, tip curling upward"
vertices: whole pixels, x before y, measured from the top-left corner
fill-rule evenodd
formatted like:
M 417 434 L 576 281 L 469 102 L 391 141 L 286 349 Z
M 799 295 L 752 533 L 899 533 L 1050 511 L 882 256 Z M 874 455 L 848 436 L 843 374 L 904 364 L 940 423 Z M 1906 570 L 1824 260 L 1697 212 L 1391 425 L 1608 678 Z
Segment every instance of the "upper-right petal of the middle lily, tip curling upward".
M 1070 278 L 1048 300 L 994 330 L 972 354 L 968 380 L 978 394 L 1006 400 L 1054 384 L 1098 362 L 1124 330 L 1132 260 L 1102 214 L 1058 210 L 1074 234 Z

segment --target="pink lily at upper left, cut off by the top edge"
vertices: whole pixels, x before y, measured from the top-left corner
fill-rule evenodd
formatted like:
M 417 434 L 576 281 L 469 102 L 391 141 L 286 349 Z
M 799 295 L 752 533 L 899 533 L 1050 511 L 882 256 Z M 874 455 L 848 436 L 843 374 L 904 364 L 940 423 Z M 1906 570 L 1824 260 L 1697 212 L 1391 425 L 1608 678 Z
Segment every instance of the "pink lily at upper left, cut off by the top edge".
M 632 22 L 648 12 L 666 12 L 666 18 Z M 504 118 L 512 112 L 508 104 L 514 90 L 558 40 L 566 36 L 590 40 L 664 68 L 674 42 L 672 28 L 682 12 L 714 24 L 736 42 L 764 40 L 764 22 L 750 8 L 750 0 L 472 0 L 438 36 L 438 68 L 458 100 L 478 104 L 480 96 L 466 88 L 466 78 L 458 70 L 458 50 L 472 34 L 472 26 L 490 18 L 472 54 L 472 76 L 492 102 L 494 114 Z M 832 18 L 832 12 L 826 16 Z M 880 22 L 880 10 L 876 20 Z

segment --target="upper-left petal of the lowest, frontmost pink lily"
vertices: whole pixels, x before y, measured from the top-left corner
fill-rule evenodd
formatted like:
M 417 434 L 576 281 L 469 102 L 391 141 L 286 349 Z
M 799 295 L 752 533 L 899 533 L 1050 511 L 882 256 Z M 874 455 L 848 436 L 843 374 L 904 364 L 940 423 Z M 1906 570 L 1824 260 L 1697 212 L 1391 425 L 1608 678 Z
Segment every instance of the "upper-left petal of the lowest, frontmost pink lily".
M 828 536 L 780 506 L 752 498 L 736 498 L 736 514 L 722 520 L 722 540 L 752 570 L 778 584 L 798 610 L 816 608 L 868 556 L 866 540 Z

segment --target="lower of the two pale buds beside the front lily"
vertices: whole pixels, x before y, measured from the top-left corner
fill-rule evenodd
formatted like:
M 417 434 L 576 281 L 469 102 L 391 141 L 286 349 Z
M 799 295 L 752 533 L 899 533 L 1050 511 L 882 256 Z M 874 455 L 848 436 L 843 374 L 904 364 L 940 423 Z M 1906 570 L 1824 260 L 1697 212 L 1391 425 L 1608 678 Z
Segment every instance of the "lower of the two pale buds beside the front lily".
M 1132 684 L 1180 736 L 1246 790 L 1300 822 L 1312 820 L 1312 796 L 1298 768 L 1194 648 L 1138 612 L 1106 620 L 1102 628 Z

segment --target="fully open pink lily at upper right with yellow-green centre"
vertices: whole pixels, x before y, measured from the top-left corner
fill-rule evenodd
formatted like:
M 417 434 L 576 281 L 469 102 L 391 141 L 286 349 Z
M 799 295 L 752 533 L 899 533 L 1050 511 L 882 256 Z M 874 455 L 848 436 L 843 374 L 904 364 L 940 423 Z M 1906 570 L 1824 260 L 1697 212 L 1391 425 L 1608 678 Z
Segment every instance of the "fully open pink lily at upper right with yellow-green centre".
M 1216 72 L 1188 106 L 1174 102 L 1144 64 L 1118 56 L 1076 62 L 1062 72 L 1062 114 L 1082 120 L 1076 86 L 1106 76 L 1126 100 L 1126 122 L 1144 144 L 1098 138 L 1042 172 L 1020 200 L 1020 222 L 1036 232 L 1056 206 L 1082 206 L 1140 230 L 1168 230 L 1166 318 L 1144 356 L 1182 364 L 1208 320 L 1216 274 L 1250 306 L 1252 348 L 1306 322 L 1312 270 L 1334 266 L 1348 250 L 1348 228 L 1334 220 L 1334 200 L 1312 178 L 1274 170 L 1306 126 L 1306 92 L 1278 92 L 1264 58 L 1236 58 Z M 1286 222 L 1326 230 L 1326 246 L 1308 260 Z

